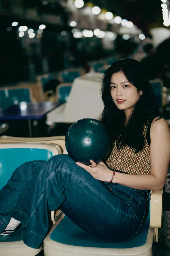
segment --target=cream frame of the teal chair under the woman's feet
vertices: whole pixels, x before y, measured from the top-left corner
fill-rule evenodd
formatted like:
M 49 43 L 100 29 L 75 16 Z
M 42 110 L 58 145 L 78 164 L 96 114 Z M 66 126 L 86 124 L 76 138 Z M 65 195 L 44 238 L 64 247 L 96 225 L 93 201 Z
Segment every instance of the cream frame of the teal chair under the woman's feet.
M 6 140 L 7 141 L 7 140 Z M 39 148 L 47 149 L 52 152 L 52 155 L 61 154 L 61 148 L 55 143 L 40 143 L 40 142 L 14 142 L 14 143 L 0 143 L 0 149 L 2 148 Z M 58 214 L 58 216 L 60 216 Z M 56 218 L 57 219 L 57 218 Z M 42 250 L 42 247 L 39 249 L 33 249 L 24 244 L 24 242 L 0 242 L 0 256 L 34 256 L 37 255 Z

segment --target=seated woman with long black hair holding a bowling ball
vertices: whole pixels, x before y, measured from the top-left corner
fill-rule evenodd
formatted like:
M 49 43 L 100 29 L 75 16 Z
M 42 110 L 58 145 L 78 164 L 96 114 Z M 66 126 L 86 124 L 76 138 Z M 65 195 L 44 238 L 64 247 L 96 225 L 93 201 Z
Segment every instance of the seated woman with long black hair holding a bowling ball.
M 48 232 L 48 209 L 57 208 L 102 239 L 121 241 L 139 231 L 149 190 L 165 184 L 169 126 L 136 60 L 112 64 L 103 77 L 102 99 L 102 122 L 112 143 L 104 162 L 87 166 L 57 155 L 18 167 L 0 191 L 0 233 L 20 221 L 24 243 L 38 248 Z

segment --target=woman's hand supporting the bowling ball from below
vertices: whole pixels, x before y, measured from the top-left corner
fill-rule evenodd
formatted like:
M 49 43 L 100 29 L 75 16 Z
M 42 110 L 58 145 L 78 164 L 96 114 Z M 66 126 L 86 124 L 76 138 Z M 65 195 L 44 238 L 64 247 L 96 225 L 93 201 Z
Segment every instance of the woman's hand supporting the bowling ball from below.
M 95 179 L 108 182 L 111 180 L 113 171 L 107 168 L 104 162 L 95 163 L 93 160 L 90 160 L 90 163 L 91 165 L 85 165 L 83 163 L 76 162 L 78 166 L 89 172 Z

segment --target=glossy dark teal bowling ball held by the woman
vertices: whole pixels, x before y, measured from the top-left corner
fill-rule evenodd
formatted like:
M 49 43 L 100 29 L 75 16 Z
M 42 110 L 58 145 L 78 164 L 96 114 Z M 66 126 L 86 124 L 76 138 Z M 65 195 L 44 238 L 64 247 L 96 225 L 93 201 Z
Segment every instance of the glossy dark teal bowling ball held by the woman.
M 65 136 L 65 147 L 76 162 L 91 164 L 102 161 L 110 150 L 106 127 L 98 120 L 84 118 L 70 126 Z

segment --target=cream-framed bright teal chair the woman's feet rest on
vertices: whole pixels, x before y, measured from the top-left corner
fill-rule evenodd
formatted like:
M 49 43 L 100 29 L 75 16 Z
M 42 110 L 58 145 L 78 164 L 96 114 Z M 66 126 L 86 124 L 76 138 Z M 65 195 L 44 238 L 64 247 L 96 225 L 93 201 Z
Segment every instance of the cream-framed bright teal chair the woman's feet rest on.
M 14 143 L 14 141 L 13 143 L 0 143 L 0 189 L 10 179 L 13 171 L 21 164 L 32 160 L 47 161 L 52 156 L 61 154 L 61 152 L 60 147 L 52 143 Z M 53 216 L 54 212 L 51 214 Z M 33 249 L 26 246 L 21 239 L 21 231 L 22 226 L 10 236 L 0 236 L 1 256 L 34 256 L 41 251 L 42 247 Z

